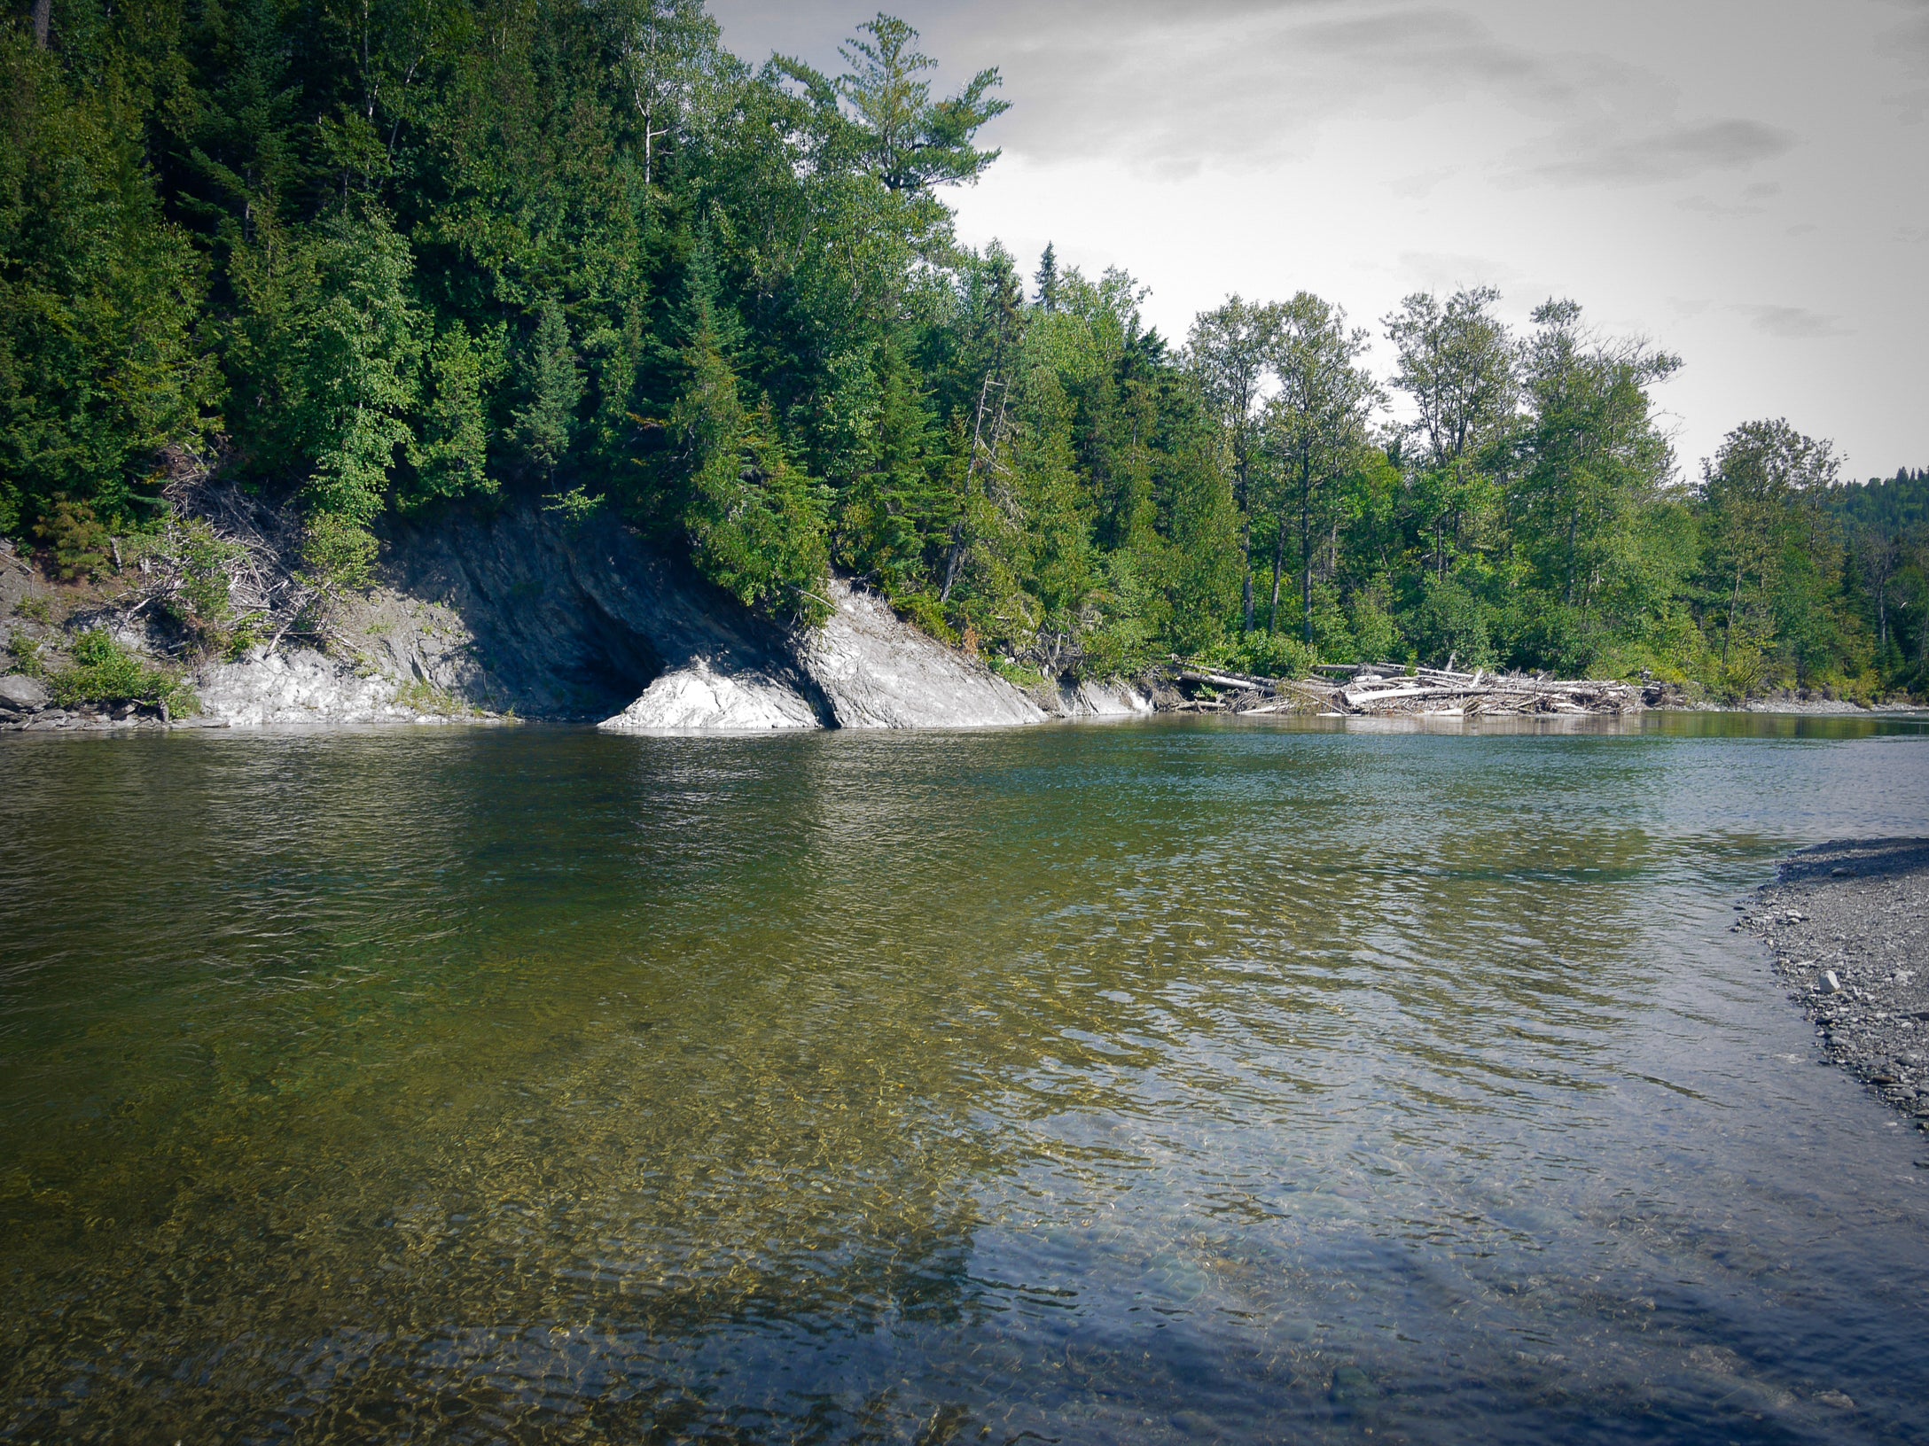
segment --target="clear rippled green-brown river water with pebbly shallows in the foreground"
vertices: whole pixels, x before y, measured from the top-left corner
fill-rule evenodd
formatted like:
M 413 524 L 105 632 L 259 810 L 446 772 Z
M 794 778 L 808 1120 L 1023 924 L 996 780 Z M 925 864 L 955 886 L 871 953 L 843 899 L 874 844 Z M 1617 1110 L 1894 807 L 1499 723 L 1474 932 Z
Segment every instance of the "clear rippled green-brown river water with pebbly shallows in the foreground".
M 1925 821 L 1834 719 L 14 735 L 0 1438 L 1925 1440 L 1929 1149 L 1726 929 Z

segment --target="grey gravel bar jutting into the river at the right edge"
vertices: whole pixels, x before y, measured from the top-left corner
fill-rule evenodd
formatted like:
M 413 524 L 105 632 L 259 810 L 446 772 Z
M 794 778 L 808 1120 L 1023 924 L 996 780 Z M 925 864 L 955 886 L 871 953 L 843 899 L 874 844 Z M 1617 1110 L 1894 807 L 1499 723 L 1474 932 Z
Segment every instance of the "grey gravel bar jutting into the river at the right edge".
M 1829 1060 L 1929 1130 L 1929 839 L 1804 848 L 1734 927 L 1775 951 Z

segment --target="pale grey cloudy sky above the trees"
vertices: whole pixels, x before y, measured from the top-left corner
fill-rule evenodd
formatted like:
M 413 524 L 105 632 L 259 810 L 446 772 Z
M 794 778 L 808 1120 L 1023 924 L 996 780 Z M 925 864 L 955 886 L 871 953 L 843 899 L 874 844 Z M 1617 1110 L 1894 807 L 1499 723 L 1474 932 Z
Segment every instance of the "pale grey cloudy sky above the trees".
M 712 0 L 835 73 L 860 4 Z M 1686 469 L 1752 416 L 1929 467 L 1929 0 L 901 0 L 1003 71 L 966 241 L 1123 266 L 1182 337 L 1227 293 L 1549 295 L 1686 368 Z M 1375 328 L 1377 330 L 1377 328 Z M 1381 364 L 1385 357 L 1381 355 Z

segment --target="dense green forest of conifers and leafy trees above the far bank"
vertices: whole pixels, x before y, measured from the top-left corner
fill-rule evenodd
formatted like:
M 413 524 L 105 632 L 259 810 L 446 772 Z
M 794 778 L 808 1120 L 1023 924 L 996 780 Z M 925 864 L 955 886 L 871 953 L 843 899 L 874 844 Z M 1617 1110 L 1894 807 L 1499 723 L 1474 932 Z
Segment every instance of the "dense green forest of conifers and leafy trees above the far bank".
M 802 625 L 843 569 L 1001 667 L 1921 683 L 1919 478 L 1863 515 L 1757 422 L 1684 484 L 1676 359 L 1572 303 L 1410 297 L 1385 380 L 1310 295 L 1169 343 L 1125 274 L 957 243 L 995 71 L 936 94 L 889 15 L 843 58 L 752 69 L 691 0 L 19 10 L 0 530 L 106 569 L 203 459 L 299 497 L 330 586 L 386 517 L 529 495 Z

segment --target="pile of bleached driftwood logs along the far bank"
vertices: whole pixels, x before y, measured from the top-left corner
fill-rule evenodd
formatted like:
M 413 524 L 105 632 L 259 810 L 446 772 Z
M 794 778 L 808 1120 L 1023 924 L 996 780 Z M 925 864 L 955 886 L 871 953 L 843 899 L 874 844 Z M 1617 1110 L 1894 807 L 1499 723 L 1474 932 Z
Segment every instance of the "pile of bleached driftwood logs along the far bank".
M 1177 661 L 1167 669 L 1182 713 L 1319 713 L 1325 717 L 1524 717 L 1638 713 L 1642 690 L 1609 679 L 1532 673 L 1453 673 L 1399 663 L 1345 663 L 1329 677 L 1260 679 Z

